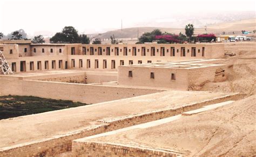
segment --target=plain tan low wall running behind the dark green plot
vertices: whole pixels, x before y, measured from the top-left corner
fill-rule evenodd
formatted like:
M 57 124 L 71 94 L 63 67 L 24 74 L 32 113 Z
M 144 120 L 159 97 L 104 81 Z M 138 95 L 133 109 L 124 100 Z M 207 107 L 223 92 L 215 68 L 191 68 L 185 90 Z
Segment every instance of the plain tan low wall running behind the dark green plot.
M 21 77 L 0 76 L 1 95 L 28 95 L 41 98 L 80 101 L 95 104 L 105 101 L 136 97 L 162 92 L 143 88 L 114 87 L 39 80 L 22 80 Z

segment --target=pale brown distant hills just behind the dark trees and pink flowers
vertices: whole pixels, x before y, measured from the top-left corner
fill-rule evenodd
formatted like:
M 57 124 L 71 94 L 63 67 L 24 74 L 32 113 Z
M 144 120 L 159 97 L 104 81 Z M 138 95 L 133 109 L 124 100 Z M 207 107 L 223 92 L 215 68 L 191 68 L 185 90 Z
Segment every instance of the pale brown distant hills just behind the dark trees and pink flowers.
M 219 35 L 225 31 L 225 34 L 240 34 L 241 30 L 253 31 L 256 26 L 256 18 L 245 19 L 241 21 L 233 21 L 233 22 L 224 22 L 218 24 L 212 24 L 207 26 L 208 33 L 215 33 Z M 185 28 L 185 25 L 184 25 Z M 95 38 L 107 39 L 110 36 L 114 35 L 116 38 L 137 38 L 137 36 L 141 36 L 144 32 L 151 32 L 154 29 L 160 29 L 162 32 L 170 32 L 176 33 L 179 32 L 185 33 L 184 28 L 160 28 L 160 27 L 138 27 L 138 28 L 126 28 L 123 30 L 113 30 L 107 31 L 105 33 L 99 34 L 89 34 L 89 36 L 93 36 Z M 206 33 L 205 27 L 195 28 L 195 34 Z

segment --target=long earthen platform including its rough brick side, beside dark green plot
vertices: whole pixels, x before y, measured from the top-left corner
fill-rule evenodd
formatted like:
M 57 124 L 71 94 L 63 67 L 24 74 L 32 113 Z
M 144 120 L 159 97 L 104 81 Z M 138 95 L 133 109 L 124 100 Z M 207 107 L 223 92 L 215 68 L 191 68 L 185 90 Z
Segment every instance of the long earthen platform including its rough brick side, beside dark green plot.
M 0 155 L 55 155 L 72 140 L 237 99 L 237 93 L 165 91 L 0 121 Z

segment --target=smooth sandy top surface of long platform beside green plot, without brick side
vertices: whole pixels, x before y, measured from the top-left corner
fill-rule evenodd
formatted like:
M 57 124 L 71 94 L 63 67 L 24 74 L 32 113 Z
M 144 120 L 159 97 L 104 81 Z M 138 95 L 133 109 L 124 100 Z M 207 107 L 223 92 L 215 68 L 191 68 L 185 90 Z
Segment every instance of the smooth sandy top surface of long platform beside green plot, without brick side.
M 116 119 L 224 96 L 224 93 L 165 91 L 106 103 L 0 120 L 0 148 L 92 127 Z

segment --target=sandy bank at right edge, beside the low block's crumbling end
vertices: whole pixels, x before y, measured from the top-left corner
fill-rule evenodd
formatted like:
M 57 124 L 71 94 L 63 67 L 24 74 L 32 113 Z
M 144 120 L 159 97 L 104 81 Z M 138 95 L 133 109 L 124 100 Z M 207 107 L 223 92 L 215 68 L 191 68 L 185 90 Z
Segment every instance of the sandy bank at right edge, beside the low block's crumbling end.
M 240 92 L 247 96 L 256 94 L 256 42 L 235 42 L 225 44 L 226 53 L 237 56 L 226 57 L 218 64 L 227 65 L 227 80 L 219 83 L 207 83 L 202 91 Z

